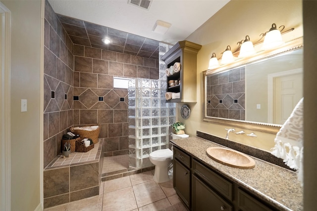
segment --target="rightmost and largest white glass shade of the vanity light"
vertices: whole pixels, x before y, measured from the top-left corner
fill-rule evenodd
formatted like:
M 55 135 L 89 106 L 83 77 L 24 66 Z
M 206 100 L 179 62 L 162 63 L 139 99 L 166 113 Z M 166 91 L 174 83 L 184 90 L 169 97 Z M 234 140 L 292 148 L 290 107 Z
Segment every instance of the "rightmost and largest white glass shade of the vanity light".
M 272 28 L 269 30 L 269 32 L 264 37 L 263 46 L 261 49 L 268 50 L 275 48 L 279 45 L 284 44 L 284 41 L 282 39 L 281 32 L 276 29 L 276 25 L 272 24 Z

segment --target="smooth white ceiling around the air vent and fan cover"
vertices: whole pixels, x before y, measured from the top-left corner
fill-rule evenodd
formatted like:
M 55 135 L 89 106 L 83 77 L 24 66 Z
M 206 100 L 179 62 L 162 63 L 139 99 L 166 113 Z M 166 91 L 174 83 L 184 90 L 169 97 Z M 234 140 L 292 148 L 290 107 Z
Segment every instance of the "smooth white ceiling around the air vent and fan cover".
M 175 44 L 185 40 L 229 0 L 151 0 L 149 10 L 129 0 L 49 0 L 55 13 Z M 152 32 L 157 20 L 171 24 L 164 34 Z

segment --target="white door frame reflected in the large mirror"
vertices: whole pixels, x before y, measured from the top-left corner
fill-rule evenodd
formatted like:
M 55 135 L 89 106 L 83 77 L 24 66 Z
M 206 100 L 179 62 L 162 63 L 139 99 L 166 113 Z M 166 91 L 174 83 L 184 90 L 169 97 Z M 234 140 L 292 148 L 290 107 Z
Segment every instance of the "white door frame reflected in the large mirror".
M 267 123 L 273 124 L 274 120 L 274 78 L 299 73 L 303 73 L 303 68 L 297 68 L 267 75 Z

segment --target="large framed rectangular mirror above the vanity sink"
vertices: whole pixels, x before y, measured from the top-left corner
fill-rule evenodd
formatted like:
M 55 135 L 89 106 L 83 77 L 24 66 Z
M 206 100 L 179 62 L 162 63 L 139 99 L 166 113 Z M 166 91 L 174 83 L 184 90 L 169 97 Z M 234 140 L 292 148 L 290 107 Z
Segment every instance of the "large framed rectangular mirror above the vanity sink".
M 203 72 L 203 121 L 276 134 L 303 97 L 303 48 Z

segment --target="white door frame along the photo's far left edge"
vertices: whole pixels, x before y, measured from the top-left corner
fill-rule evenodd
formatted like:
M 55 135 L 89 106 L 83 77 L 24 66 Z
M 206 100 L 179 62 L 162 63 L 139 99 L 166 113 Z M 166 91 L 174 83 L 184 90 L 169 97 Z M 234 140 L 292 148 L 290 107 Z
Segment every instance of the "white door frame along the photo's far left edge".
M 0 2 L 0 210 L 11 210 L 11 12 Z

